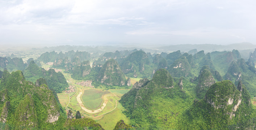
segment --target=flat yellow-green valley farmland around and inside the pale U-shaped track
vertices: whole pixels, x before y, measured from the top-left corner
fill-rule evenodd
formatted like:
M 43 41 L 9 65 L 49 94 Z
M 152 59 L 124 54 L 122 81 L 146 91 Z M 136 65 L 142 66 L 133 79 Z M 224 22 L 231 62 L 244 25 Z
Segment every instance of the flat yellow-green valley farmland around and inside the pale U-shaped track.
M 45 67 L 49 67 L 45 65 Z M 125 123 L 130 123 L 129 118 L 127 118 L 123 113 L 123 107 L 118 102 L 121 96 L 129 91 L 129 89 L 110 89 L 110 90 L 99 90 L 87 86 L 82 86 L 76 84 L 81 82 L 82 80 L 76 80 L 71 78 L 71 74 L 65 73 L 62 70 L 64 77 L 66 78 L 68 84 L 74 85 L 77 89 L 76 92 L 72 92 L 70 94 L 66 92 L 62 92 L 57 94 L 60 100 L 60 104 L 62 107 L 67 110 L 71 110 L 73 115 L 79 110 L 81 116 L 83 118 L 92 118 L 96 120 L 105 130 L 113 130 L 116 123 L 119 120 L 124 120 Z M 140 78 L 131 78 L 132 84 L 139 81 Z M 80 92 L 83 92 L 80 99 L 83 101 L 84 107 L 90 109 L 91 111 L 95 111 L 96 109 L 101 109 L 102 104 L 106 103 L 106 106 L 96 113 L 88 113 L 84 109 L 81 108 L 80 104 L 77 101 L 77 96 Z M 112 120 L 109 120 L 109 119 Z

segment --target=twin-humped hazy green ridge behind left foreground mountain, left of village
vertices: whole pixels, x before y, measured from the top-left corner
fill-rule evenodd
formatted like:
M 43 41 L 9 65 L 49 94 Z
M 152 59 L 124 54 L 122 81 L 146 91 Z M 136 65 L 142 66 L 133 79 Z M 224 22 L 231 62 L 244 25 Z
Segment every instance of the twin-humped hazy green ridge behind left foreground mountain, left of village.
M 57 93 L 64 91 L 68 87 L 67 80 L 62 73 L 56 73 L 54 69 L 47 71 L 38 67 L 34 61 L 31 61 L 28 68 L 24 70 L 24 77 L 31 82 L 35 82 L 39 78 L 44 78 L 49 88 Z

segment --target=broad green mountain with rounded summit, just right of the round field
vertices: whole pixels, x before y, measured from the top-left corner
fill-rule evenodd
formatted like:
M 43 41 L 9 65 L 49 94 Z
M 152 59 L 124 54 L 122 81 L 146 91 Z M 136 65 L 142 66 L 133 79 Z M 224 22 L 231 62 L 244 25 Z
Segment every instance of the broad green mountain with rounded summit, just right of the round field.
M 188 103 L 186 98 L 170 73 L 159 69 L 152 80 L 144 78 L 135 83 L 119 102 L 126 108 L 126 116 L 143 129 L 174 129 L 176 116 Z

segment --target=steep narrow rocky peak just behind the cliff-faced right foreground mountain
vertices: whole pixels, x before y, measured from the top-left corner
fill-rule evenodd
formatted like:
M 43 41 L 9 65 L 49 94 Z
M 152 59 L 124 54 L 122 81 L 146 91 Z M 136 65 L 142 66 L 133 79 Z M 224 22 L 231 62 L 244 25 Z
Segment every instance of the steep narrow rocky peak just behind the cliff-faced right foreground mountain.
M 208 88 L 215 83 L 213 75 L 208 69 L 202 70 L 200 75 L 198 76 L 198 84 L 197 84 L 197 97 L 202 99 L 205 96 Z

